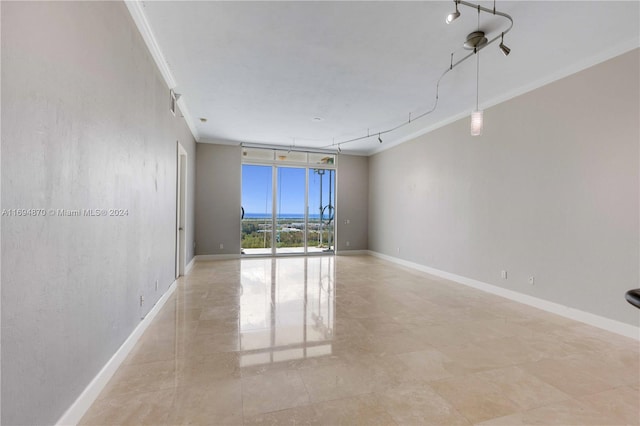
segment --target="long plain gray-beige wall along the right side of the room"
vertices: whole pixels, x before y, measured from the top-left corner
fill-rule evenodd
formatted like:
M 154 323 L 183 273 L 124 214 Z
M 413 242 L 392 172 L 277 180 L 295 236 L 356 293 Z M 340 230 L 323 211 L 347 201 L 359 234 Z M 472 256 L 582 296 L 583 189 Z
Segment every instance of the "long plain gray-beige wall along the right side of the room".
M 490 108 L 481 137 L 464 119 L 371 157 L 369 248 L 638 325 L 639 60 Z

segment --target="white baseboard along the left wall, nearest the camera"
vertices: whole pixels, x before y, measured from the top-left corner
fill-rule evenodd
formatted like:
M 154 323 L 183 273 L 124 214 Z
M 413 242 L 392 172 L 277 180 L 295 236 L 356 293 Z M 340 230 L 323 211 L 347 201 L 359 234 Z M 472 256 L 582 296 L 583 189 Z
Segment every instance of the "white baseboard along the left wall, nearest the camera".
M 138 326 L 127 337 L 127 340 L 118 348 L 115 354 L 107 361 L 102 367 L 100 372 L 93 378 L 93 380 L 82 391 L 80 396 L 71 404 L 71 407 L 60 417 L 56 425 L 77 425 L 82 417 L 89 410 L 91 405 L 100 395 L 100 392 L 109 383 L 109 380 L 115 374 L 116 370 L 120 367 L 122 362 L 127 358 L 127 355 L 131 352 L 135 344 L 138 342 L 144 331 L 149 327 L 151 321 L 156 317 L 158 312 L 167 303 L 169 297 L 176 291 L 178 286 L 177 281 L 174 281 L 167 289 L 166 293 L 158 299 L 158 302 L 151 308 L 149 313 L 140 321 Z

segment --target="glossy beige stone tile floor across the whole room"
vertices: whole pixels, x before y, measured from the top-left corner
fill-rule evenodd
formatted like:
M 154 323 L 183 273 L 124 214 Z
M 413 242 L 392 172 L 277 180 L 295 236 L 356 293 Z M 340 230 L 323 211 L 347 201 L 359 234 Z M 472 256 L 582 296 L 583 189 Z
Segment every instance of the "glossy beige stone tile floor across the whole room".
M 201 262 L 81 423 L 640 424 L 639 355 L 373 257 Z

